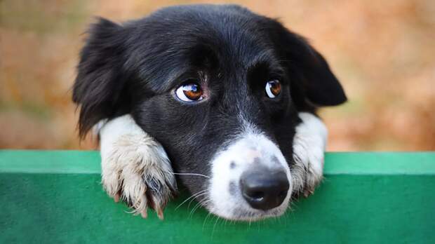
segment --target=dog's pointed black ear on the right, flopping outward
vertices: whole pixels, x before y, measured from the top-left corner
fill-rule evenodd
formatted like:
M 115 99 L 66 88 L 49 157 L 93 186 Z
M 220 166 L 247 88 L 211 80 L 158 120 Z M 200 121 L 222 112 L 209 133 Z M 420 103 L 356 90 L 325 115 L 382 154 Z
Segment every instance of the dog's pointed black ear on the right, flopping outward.
M 274 36 L 280 55 L 283 55 L 290 72 L 298 78 L 292 81 L 297 93 L 302 92 L 304 99 L 316 107 L 346 102 L 344 90 L 331 72 L 328 62 L 302 36 L 288 31 L 282 25 Z

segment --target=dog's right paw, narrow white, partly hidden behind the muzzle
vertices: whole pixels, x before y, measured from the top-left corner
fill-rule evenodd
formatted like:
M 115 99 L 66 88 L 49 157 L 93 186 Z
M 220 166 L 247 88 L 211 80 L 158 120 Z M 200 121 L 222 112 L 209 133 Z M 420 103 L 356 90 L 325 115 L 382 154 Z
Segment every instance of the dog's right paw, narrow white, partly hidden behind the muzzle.
M 302 122 L 297 125 L 293 138 L 294 165 L 290 172 L 295 194 L 307 197 L 323 177 L 323 154 L 328 130 L 314 114 L 300 112 L 299 117 Z

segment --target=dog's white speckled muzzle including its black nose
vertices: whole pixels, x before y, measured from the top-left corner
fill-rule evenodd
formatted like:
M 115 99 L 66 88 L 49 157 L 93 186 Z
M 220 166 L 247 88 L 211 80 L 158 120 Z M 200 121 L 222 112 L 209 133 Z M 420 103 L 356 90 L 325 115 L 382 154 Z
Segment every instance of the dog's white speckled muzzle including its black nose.
M 293 187 L 279 148 L 253 132 L 216 154 L 208 186 L 201 204 L 219 217 L 241 221 L 282 215 Z

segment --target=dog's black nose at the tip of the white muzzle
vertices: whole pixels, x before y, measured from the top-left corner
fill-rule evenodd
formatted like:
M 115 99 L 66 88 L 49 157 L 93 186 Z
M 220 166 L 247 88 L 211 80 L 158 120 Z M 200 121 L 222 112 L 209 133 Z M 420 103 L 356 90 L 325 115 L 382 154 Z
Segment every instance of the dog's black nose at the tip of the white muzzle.
M 255 169 L 243 172 L 240 178 L 241 193 L 253 208 L 276 208 L 287 196 L 288 179 L 283 170 Z

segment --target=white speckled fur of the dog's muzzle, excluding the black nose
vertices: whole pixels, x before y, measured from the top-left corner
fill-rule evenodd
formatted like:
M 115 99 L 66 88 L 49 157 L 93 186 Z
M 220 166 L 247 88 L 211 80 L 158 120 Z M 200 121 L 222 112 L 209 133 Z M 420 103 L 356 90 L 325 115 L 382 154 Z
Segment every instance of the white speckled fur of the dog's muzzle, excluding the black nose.
M 244 200 L 239 190 L 240 177 L 243 172 L 256 166 L 285 170 L 290 187 L 279 207 L 267 211 L 257 210 Z M 225 151 L 217 153 L 210 167 L 210 201 L 206 208 L 215 215 L 227 219 L 255 220 L 281 215 L 288 207 L 292 191 L 290 169 L 279 148 L 265 135 L 252 132 L 242 135 Z M 232 192 L 231 187 L 236 190 Z

